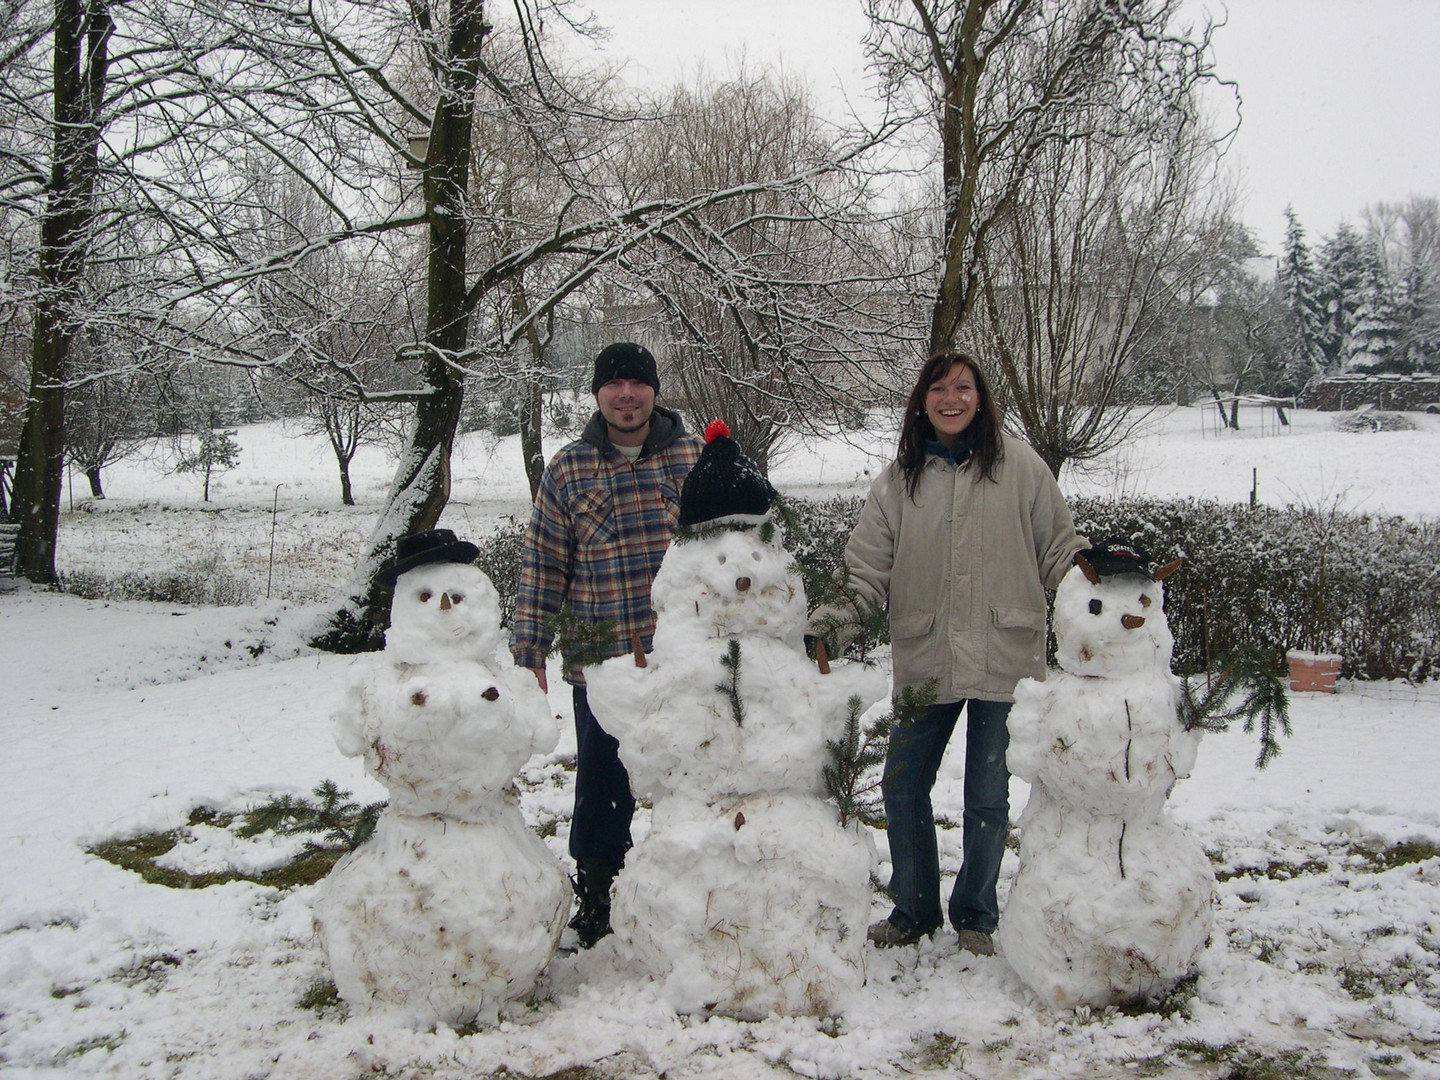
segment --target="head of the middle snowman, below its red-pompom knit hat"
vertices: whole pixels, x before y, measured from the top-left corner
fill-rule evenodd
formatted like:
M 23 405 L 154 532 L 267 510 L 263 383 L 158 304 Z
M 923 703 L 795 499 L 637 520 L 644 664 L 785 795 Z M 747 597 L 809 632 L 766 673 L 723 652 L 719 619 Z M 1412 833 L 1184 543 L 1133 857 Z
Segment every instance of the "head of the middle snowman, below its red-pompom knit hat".
M 651 589 L 657 639 L 667 624 L 698 625 L 708 636 L 763 632 L 801 645 L 805 590 L 795 560 L 759 528 L 714 530 L 665 552 Z

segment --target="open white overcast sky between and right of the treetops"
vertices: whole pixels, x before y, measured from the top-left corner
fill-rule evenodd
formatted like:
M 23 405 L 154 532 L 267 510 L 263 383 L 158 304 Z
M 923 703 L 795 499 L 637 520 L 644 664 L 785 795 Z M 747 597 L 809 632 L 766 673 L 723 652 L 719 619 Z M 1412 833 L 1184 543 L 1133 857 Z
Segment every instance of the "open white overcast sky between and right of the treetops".
M 668 82 L 740 53 L 825 101 L 867 89 L 858 0 L 590 0 L 608 52 Z M 1220 0 L 1191 0 L 1221 12 Z M 1274 248 L 1293 204 L 1312 242 L 1375 202 L 1440 194 L 1440 1 L 1231 0 L 1217 66 L 1240 84 L 1231 161 L 1246 222 Z

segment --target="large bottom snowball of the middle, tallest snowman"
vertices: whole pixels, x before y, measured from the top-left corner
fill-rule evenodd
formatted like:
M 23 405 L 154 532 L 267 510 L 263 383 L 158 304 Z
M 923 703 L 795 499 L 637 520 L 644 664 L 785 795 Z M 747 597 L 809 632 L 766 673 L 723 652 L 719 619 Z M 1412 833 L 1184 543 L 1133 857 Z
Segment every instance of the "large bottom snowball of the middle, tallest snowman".
M 819 799 L 677 795 L 616 878 L 611 923 L 677 1012 L 825 1017 L 865 981 L 873 863 Z

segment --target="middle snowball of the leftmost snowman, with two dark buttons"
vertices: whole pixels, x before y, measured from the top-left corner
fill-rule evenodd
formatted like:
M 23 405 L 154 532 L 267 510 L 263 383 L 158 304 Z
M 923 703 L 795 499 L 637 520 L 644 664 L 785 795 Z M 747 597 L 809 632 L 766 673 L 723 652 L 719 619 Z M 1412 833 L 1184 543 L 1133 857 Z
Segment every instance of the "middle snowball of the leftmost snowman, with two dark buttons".
M 363 670 L 336 720 L 340 750 L 364 757 L 396 809 L 461 819 L 485 815 L 516 772 L 559 740 L 528 671 L 464 660 L 396 664 L 389 651 Z

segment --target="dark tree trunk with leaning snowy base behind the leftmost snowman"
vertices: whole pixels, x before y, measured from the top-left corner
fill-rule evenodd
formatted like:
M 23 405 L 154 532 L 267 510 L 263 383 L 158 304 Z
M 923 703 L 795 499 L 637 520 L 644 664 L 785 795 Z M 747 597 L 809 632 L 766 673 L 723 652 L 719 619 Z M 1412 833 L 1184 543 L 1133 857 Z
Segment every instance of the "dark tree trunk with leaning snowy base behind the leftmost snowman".
M 471 128 L 480 49 L 490 26 L 484 0 L 452 0 L 445 55 L 438 58 L 441 94 L 431 124 L 425 164 L 425 210 L 429 222 L 426 272 L 426 387 L 415 406 L 410 444 L 396 467 L 380 523 L 351 579 L 350 602 L 331 615 L 317 648 L 361 652 L 384 645 L 390 593 L 374 575 L 395 554 L 400 537 L 433 528 L 449 501 L 451 451 L 465 393 L 461 357 L 469 338 L 465 253 L 469 219 Z

